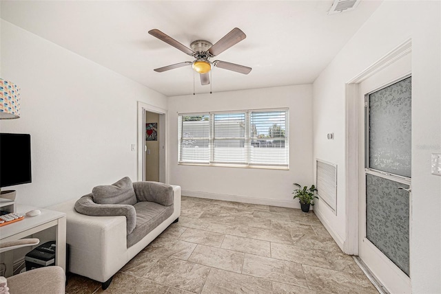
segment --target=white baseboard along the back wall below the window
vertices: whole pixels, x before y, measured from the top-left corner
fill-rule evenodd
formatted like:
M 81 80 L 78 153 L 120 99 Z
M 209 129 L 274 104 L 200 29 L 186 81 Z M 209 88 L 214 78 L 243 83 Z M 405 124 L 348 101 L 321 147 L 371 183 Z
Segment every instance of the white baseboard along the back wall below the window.
M 270 206 L 289 207 L 289 208 L 300 209 L 300 203 L 298 203 L 298 201 L 294 201 L 294 200 L 293 201 L 283 201 L 283 200 L 277 200 L 277 199 L 264 199 L 264 198 L 255 198 L 255 197 L 249 197 L 249 196 L 216 194 L 216 193 L 189 191 L 189 190 L 182 190 L 182 195 L 196 197 L 196 198 L 204 198 L 204 199 L 235 201 L 235 202 L 241 202 L 241 203 L 251 203 L 251 204 L 270 205 Z

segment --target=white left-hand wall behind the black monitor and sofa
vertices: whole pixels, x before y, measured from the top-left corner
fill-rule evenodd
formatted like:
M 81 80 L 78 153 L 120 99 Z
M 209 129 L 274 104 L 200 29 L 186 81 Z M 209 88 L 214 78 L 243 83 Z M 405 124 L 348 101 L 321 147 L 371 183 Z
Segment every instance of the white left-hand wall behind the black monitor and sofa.
M 3 190 L 45 207 L 137 180 L 136 101 L 166 109 L 165 96 L 6 21 L 1 65 L 1 78 L 21 87 L 21 117 L 1 120 L 0 131 L 32 140 L 32 183 Z

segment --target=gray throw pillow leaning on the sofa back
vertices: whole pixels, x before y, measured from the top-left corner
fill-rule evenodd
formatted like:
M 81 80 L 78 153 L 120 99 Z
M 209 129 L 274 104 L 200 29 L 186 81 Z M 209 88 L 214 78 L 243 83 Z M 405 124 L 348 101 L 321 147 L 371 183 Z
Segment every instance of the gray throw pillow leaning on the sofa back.
M 129 177 L 112 185 L 99 185 L 92 189 L 94 203 L 99 204 L 130 204 L 136 203 L 132 180 Z

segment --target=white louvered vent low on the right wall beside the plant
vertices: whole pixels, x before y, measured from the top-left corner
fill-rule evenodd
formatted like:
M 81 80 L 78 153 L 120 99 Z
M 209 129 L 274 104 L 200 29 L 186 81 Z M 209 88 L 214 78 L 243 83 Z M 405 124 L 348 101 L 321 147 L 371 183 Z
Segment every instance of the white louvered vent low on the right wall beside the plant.
M 317 159 L 316 167 L 318 197 L 337 215 L 337 165 Z

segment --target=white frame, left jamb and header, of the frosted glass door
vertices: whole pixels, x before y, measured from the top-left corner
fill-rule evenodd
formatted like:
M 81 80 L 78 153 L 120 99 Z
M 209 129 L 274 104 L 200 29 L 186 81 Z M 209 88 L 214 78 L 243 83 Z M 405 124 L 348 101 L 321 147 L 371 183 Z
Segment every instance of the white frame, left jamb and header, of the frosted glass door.
M 346 187 L 345 187 L 345 212 L 346 212 L 346 236 L 343 245 L 345 253 L 358 256 L 358 236 L 359 236 L 359 183 L 360 161 L 359 161 L 359 142 L 360 142 L 360 93 L 359 84 L 370 76 L 378 73 L 385 67 L 396 62 L 400 58 L 411 54 L 411 38 L 392 49 L 391 52 L 373 63 L 370 67 L 353 77 L 345 84 L 345 165 L 346 165 Z

